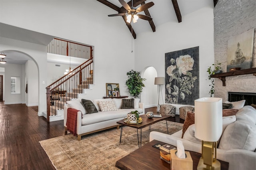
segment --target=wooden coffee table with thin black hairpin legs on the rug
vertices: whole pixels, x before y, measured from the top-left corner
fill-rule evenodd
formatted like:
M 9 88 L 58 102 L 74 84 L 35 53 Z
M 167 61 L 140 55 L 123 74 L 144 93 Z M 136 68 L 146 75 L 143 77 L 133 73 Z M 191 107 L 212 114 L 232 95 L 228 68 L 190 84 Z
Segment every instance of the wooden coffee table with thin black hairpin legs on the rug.
M 144 127 L 149 126 L 149 129 L 150 129 L 151 125 L 153 125 L 154 123 L 166 120 L 166 127 L 167 127 L 167 133 L 168 133 L 167 120 L 170 120 L 170 118 L 171 118 L 170 115 L 162 115 L 162 117 L 153 117 L 151 119 L 148 119 L 146 115 L 140 115 L 140 117 L 142 117 L 142 123 L 140 123 L 140 124 L 127 124 L 127 123 L 124 123 L 124 120 L 120 120 L 120 121 L 116 122 L 121 125 L 120 142 L 121 142 L 121 138 L 122 138 L 123 125 L 137 129 L 139 147 L 141 147 L 141 129 Z M 138 129 L 140 129 L 140 142 L 139 142 Z

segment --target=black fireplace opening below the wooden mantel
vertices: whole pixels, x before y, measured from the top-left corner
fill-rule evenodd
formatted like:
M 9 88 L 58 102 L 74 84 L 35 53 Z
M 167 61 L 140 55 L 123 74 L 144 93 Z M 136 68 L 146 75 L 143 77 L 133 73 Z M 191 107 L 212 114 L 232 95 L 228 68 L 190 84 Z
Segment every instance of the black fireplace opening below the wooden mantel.
M 256 93 L 228 92 L 228 101 L 245 100 L 244 105 L 256 104 Z

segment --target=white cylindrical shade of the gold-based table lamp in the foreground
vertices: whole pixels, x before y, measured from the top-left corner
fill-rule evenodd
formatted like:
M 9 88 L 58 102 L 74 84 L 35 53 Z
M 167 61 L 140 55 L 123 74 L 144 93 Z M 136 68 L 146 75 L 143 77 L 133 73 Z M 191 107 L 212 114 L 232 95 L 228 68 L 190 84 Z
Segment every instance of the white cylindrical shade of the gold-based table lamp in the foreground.
M 222 134 L 222 98 L 204 97 L 195 100 L 195 136 L 216 142 Z

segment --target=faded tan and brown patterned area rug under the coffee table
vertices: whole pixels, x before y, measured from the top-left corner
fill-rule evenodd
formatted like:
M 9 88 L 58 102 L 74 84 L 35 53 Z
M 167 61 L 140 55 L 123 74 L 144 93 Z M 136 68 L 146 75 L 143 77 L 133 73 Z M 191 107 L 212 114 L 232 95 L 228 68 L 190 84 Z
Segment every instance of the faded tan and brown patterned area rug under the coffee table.
M 169 134 L 181 130 L 182 123 L 168 122 Z M 142 146 L 149 142 L 149 133 L 167 133 L 166 121 L 142 128 Z M 140 130 L 139 130 L 140 137 Z M 120 129 L 112 128 L 82 136 L 67 134 L 40 141 L 53 166 L 57 170 L 116 170 L 116 161 L 138 149 L 136 128 L 123 127 L 122 140 Z

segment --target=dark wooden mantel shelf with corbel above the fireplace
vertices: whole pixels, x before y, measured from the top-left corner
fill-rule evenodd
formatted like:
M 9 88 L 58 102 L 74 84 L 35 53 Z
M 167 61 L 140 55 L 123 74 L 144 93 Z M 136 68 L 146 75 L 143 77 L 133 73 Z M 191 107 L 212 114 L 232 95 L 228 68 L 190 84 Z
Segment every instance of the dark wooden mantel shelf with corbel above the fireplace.
M 212 75 L 211 77 L 219 78 L 222 81 L 222 86 L 226 86 L 226 77 L 235 76 L 235 75 L 244 75 L 244 74 L 253 74 L 256 76 L 256 68 L 236 70 L 236 71 L 230 71 L 226 73 L 218 73 L 218 74 Z

